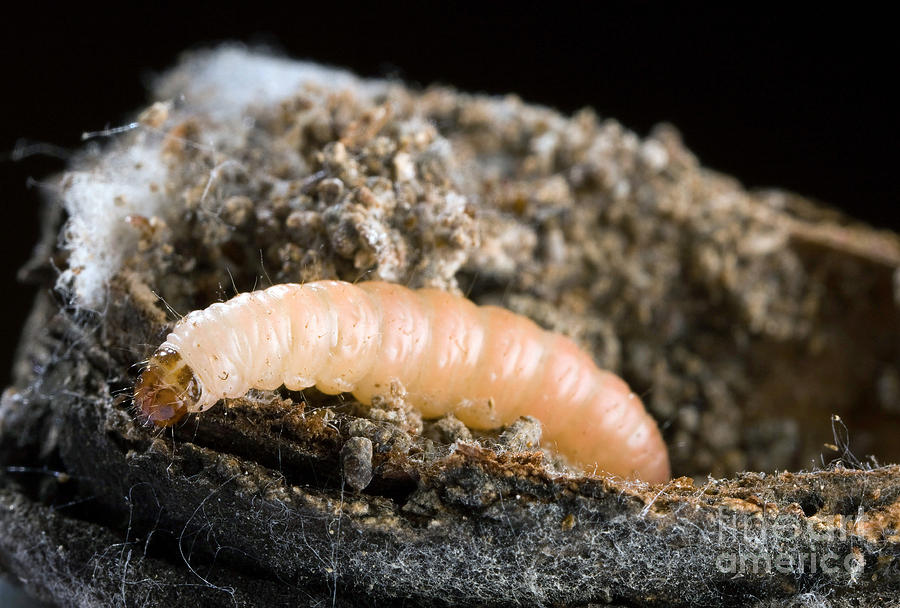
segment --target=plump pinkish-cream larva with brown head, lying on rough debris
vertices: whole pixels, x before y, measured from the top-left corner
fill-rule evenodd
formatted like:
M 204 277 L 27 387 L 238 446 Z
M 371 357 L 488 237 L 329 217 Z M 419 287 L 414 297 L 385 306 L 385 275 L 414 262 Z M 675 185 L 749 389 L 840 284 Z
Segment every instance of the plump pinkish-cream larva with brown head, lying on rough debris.
M 425 418 L 452 412 L 493 429 L 530 415 L 575 466 L 669 478 L 659 429 L 618 376 L 565 336 L 437 289 L 318 281 L 240 294 L 184 317 L 134 400 L 169 426 L 251 388 L 316 386 L 371 403 L 393 380 Z

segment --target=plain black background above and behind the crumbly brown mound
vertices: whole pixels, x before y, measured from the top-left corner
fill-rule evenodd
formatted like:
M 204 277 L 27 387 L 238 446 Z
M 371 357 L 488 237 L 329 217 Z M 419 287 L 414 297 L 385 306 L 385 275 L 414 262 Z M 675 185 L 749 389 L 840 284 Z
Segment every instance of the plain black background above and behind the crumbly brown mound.
M 900 229 L 898 53 L 886 15 L 758 3 L 729 14 L 649 3 L 285 5 L 3 15 L 0 386 L 33 296 L 14 279 L 37 233 L 29 178 L 63 167 L 40 156 L 11 162 L 16 141 L 76 149 L 83 131 L 128 122 L 147 79 L 181 51 L 223 40 L 365 76 L 516 92 L 567 113 L 593 106 L 642 135 L 668 121 L 704 164 L 748 187 L 791 189 Z

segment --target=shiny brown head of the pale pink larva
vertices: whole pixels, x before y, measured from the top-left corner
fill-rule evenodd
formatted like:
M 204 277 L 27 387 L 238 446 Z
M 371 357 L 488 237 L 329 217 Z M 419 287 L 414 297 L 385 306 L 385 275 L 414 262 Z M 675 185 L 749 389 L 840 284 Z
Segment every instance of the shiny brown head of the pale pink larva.
M 160 348 L 134 385 L 134 404 L 157 426 L 172 426 L 199 399 L 194 373 L 176 351 Z

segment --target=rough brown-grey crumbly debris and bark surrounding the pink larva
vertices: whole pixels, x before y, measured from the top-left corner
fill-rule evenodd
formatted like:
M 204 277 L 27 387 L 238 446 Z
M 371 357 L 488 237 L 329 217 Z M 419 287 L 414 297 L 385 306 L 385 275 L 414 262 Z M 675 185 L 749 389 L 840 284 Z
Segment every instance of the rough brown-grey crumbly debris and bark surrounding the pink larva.
M 894 596 L 894 235 L 590 111 L 308 66 L 217 106 L 197 91 L 228 53 L 189 59 L 156 93 L 181 101 L 60 181 L 65 248 L 51 206 L 26 274 L 65 268 L 68 299 L 39 298 L 0 406 L 0 568 L 79 606 Z M 138 157 L 128 189 L 104 181 Z M 93 231 L 92 176 L 110 209 Z M 174 433 L 135 421 L 134 363 L 173 320 L 155 294 L 184 312 L 318 278 L 459 290 L 575 337 L 696 481 L 567 476 L 529 447 L 534 421 L 422 421 L 399 387 L 371 408 L 254 392 Z

